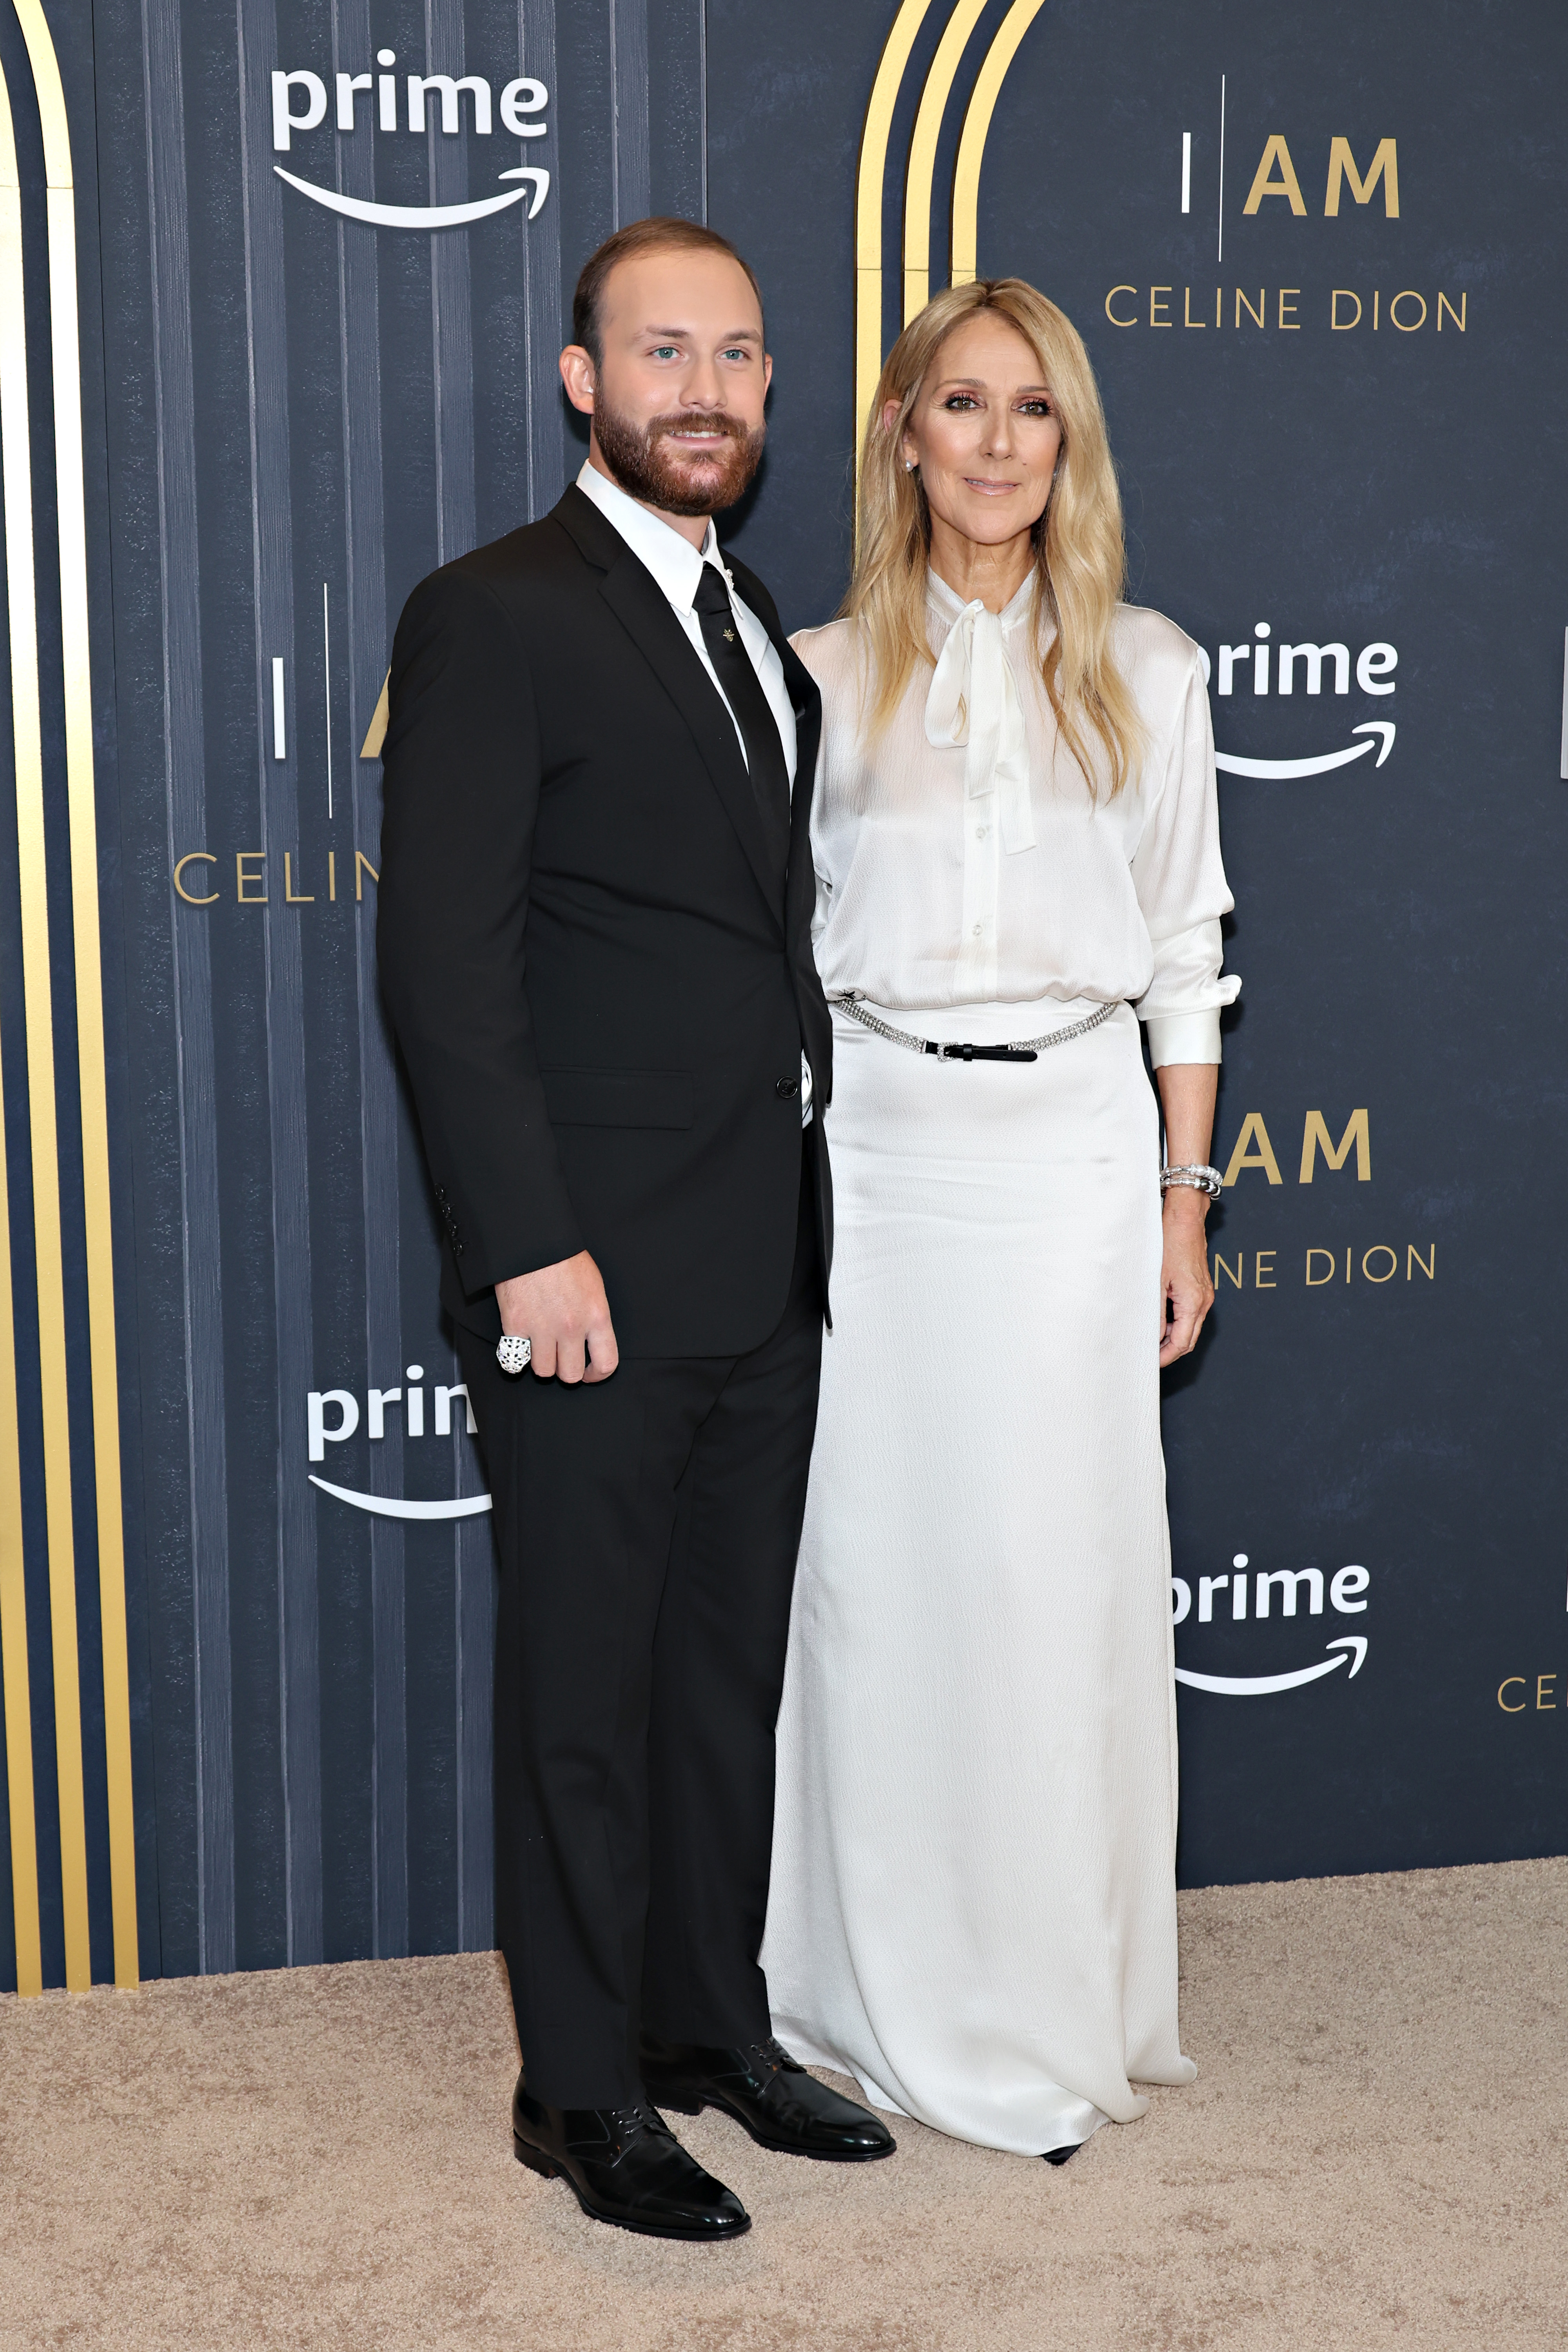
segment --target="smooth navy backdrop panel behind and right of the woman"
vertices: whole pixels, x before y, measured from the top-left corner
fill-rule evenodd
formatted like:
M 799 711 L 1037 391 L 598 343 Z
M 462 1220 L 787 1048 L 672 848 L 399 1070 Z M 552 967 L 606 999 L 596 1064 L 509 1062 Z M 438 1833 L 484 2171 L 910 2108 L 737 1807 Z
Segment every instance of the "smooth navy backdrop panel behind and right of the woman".
M 983 16 L 959 96 L 999 16 Z M 1549 1350 L 1568 1141 L 1568 468 L 1554 395 L 1568 221 L 1549 158 L 1568 35 L 1544 5 L 1483 21 L 1481 38 L 1458 7 L 1046 5 L 1001 89 L 980 186 L 980 268 L 1032 278 L 1088 341 L 1133 597 L 1215 663 L 1220 644 L 1255 647 L 1258 623 L 1272 649 L 1347 647 L 1347 696 L 1312 699 L 1305 666 L 1291 699 L 1274 670 L 1267 696 L 1246 666 L 1229 694 L 1215 677 L 1220 753 L 1366 743 L 1316 776 L 1222 779 L 1229 960 L 1246 988 L 1227 1018 L 1215 1155 L 1229 1162 L 1255 1110 L 1281 1183 L 1237 1174 L 1213 1249 L 1244 1289 L 1220 1272 L 1204 1345 L 1166 1383 L 1175 1571 L 1192 1588 L 1178 1665 L 1239 1682 L 1340 1665 L 1281 1693 L 1182 1689 L 1190 1882 L 1563 1842 L 1568 1562 Z M 712 87 L 736 94 L 712 108 L 712 214 L 762 266 L 778 355 L 769 475 L 743 543 L 792 623 L 820 619 L 844 579 L 846 191 L 875 49 L 858 12 L 792 9 L 769 38 L 750 7 L 710 9 Z M 1274 195 L 1248 216 L 1272 134 L 1302 212 Z M 1345 181 L 1326 216 L 1335 136 L 1361 174 L 1396 141 L 1396 219 L 1382 186 L 1359 205 Z M 783 212 L 780 188 L 797 191 Z M 1107 315 L 1117 285 L 1131 292 L 1112 308 L 1133 327 Z M 1335 287 L 1359 289 L 1359 329 L 1333 329 Z M 1392 694 L 1363 691 L 1354 670 L 1375 642 L 1399 654 L 1373 675 Z M 1380 739 L 1354 734 L 1373 720 L 1396 727 L 1378 767 Z M 1319 1152 L 1300 1183 L 1307 1115 L 1338 1145 L 1359 1108 L 1371 1181 L 1352 1150 L 1338 1174 Z M 1234 1578 L 1239 1552 L 1248 1621 L 1232 1621 L 1220 1585 L 1199 1623 L 1199 1576 Z M 1347 1564 L 1368 1571 L 1363 1611 L 1326 1597 L 1312 1616 L 1302 1581 L 1295 1618 L 1269 1585 L 1258 1623 L 1260 1573 L 1316 1566 L 1331 1581 Z M 1354 1635 L 1368 1649 L 1352 1682 L 1354 1653 L 1328 1644 Z

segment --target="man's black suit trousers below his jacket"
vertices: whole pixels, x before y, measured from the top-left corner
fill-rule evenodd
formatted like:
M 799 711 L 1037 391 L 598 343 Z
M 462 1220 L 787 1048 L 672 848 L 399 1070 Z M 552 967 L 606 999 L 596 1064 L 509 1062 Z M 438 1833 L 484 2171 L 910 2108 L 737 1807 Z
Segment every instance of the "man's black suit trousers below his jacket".
M 736 1357 L 508 1378 L 458 1331 L 501 1545 L 496 1926 L 536 2098 L 642 2098 L 639 2025 L 769 2032 L 757 1950 L 823 1287 Z

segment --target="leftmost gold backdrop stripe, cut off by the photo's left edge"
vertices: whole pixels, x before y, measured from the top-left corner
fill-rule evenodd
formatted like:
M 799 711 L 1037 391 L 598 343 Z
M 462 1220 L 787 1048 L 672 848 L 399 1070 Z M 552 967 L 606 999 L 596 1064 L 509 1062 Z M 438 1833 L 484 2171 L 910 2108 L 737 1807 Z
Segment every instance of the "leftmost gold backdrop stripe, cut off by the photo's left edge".
M 0 306 L 21 296 L 21 183 L 12 103 L 0 66 Z M 5 430 L 5 419 L 0 419 Z M 5 1065 L 0 1056 L 0 1101 Z M 12 1816 L 12 1919 L 16 1992 L 42 1992 L 38 1933 L 38 1813 L 33 1811 L 33 1691 L 28 1581 L 21 1550 L 21 1435 L 16 1428 L 16 1317 L 12 1312 L 12 1200 L 0 1127 L 0 1670 L 5 1679 L 5 1783 Z

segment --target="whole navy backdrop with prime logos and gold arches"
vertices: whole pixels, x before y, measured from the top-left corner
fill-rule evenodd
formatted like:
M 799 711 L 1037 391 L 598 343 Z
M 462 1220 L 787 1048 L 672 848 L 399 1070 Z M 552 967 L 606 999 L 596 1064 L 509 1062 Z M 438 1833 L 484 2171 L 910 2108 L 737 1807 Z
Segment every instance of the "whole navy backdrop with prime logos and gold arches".
M 1566 66 L 1544 0 L 5 0 L 2 1985 L 491 1940 L 376 703 L 581 463 L 564 306 L 646 212 L 766 289 L 788 626 L 903 318 L 1020 273 L 1206 652 L 1182 1877 L 1561 1849 Z

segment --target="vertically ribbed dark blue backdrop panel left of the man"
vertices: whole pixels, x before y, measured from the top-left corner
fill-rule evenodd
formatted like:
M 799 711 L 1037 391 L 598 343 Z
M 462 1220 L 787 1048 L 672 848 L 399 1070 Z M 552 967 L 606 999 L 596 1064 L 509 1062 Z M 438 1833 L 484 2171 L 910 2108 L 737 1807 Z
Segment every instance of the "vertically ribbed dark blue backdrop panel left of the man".
M 581 254 L 649 200 L 701 209 L 696 0 L 668 7 L 661 35 L 644 0 L 559 28 L 548 0 L 96 12 L 99 148 L 125 188 L 103 223 L 122 1148 L 153 1399 L 167 1969 L 491 1938 L 489 1522 L 383 1517 L 310 1484 L 484 1491 L 461 1395 L 437 1409 L 461 1376 L 376 990 L 378 764 L 357 753 L 414 581 L 548 508 L 578 461 L 555 355 Z M 378 71 L 376 49 L 395 52 L 397 129 L 374 127 L 371 92 L 355 132 L 329 103 L 275 151 L 273 71 L 315 73 L 334 99 L 336 73 Z M 543 80 L 545 136 L 520 141 L 494 113 L 482 136 L 473 94 L 447 134 L 440 92 L 411 132 L 409 73 L 480 75 L 491 108 Z M 487 198 L 520 162 L 552 186 L 534 221 L 515 207 L 433 233 L 343 219 L 277 162 L 381 205 Z M 207 854 L 186 884 L 212 906 L 172 889 L 188 851 Z M 310 1461 L 308 1395 L 334 1388 L 357 1430 Z M 404 1392 L 378 1437 L 371 1390 Z

